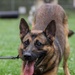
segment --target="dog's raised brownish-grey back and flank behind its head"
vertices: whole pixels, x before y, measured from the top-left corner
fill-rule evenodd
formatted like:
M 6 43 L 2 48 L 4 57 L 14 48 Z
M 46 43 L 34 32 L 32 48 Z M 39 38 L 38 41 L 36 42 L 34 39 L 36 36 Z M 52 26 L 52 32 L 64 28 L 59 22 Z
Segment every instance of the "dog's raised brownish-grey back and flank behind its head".
M 68 35 L 68 26 L 65 11 L 60 5 L 57 4 L 42 5 L 36 11 L 35 25 L 33 26 L 33 30 L 44 31 L 51 20 L 55 20 L 56 22 L 56 40 L 59 41 L 61 49 L 64 50 L 66 43 L 65 39 Z

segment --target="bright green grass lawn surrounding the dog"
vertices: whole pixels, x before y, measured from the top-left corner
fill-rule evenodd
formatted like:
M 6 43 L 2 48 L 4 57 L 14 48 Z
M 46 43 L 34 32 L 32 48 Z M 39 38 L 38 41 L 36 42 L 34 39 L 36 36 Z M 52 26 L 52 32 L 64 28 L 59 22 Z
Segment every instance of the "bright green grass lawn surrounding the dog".
M 19 39 L 18 19 L 0 19 L 0 56 L 18 55 Z M 75 30 L 75 14 L 69 12 L 69 29 Z M 69 39 L 71 54 L 69 57 L 69 68 L 71 75 L 75 75 L 75 36 Z M 0 60 L 0 75 L 20 75 L 21 63 L 19 60 Z M 58 75 L 63 75 L 63 69 L 60 66 Z

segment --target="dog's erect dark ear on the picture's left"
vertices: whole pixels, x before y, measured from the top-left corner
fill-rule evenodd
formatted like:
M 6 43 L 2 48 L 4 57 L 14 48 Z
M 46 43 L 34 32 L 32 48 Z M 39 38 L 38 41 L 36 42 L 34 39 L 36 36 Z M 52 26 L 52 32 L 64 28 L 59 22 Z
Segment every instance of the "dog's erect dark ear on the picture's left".
M 29 30 L 29 26 L 27 24 L 27 22 L 21 18 L 21 21 L 20 21 L 20 37 L 24 37 L 30 30 Z

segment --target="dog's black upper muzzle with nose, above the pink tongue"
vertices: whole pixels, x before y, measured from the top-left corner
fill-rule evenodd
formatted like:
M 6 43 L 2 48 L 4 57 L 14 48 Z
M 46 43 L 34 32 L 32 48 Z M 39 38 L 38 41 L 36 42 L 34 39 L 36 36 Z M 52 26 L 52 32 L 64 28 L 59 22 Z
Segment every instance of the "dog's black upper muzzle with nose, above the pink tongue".
M 36 59 L 38 59 L 38 63 L 40 63 L 40 61 L 45 57 L 45 55 L 46 55 L 46 51 L 37 51 L 37 52 L 23 51 L 22 60 L 33 62 Z

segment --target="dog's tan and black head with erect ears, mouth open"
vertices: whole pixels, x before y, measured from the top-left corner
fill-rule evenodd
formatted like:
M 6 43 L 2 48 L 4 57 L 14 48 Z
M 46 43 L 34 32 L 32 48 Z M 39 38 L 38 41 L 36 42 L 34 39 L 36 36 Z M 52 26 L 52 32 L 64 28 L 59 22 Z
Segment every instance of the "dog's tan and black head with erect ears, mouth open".
M 39 64 L 48 53 L 53 53 L 53 41 L 56 32 L 55 21 L 52 20 L 44 31 L 30 30 L 27 22 L 22 18 L 20 22 L 21 47 L 19 56 L 26 63 L 26 69 Z M 29 69 L 29 68 L 28 68 Z M 31 75 L 31 74 L 30 74 Z

